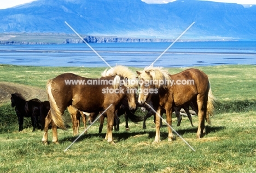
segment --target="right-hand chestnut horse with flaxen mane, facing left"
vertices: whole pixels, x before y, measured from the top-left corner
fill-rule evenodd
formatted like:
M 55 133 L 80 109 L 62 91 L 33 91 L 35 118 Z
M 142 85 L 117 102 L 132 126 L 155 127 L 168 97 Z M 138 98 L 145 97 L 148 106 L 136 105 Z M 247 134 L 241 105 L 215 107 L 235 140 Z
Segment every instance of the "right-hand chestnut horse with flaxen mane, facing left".
M 184 70 L 176 75 L 170 75 L 161 67 L 148 67 L 141 72 L 137 71 L 141 77 L 139 92 L 139 103 L 144 103 L 151 92 L 157 91 L 159 94 L 159 106 L 157 113 L 161 115 L 162 110 L 166 112 L 166 121 L 172 125 L 172 107 L 182 106 L 196 99 L 198 107 L 199 126 L 196 137 L 202 137 L 205 133 L 205 119 L 210 123 L 210 115 L 213 115 L 214 97 L 210 88 L 208 77 L 205 73 L 197 69 Z M 160 117 L 156 116 L 156 135 L 154 142 L 160 141 Z M 168 141 L 172 141 L 173 134 L 168 126 Z

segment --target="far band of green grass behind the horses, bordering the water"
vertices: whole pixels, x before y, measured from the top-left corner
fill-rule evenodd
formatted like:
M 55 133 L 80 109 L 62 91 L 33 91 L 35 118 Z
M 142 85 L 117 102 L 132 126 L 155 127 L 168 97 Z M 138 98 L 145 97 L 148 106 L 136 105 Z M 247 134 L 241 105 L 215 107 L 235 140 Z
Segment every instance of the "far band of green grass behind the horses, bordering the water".
M 37 67 L 0 65 L 0 81 L 21 83 L 44 89 L 48 79 L 65 72 L 98 78 L 106 67 Z M 131 67 L 134 72 L 142 70 Z M 171 74 L 185 68 L 169 68 Z M 205 72 L 217 98 L 216 113 L 245 112 L 256 107 L 255 65 L 221 65 L 197 67 Z

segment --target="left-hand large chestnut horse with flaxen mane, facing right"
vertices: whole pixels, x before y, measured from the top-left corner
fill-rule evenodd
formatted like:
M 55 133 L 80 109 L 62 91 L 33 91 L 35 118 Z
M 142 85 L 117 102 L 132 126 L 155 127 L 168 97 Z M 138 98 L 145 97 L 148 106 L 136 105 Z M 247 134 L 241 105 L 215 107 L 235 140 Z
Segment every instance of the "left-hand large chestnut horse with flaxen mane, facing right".
M 135 74 L 125 66 L 105 70 L 102 76 L 92 79 L 73 73 L 63 73 L 48 81 L 47 92 L 51 109 L 45 119 L 43 143 L 48 141 L 48 126 L 51 119 L 56 126 L 66 129 L 62 115 L 70 105 L 83 112 L 101 112 L 112 105 L 106 110 L 108 125 L 105 139 L 108 143 L 113 143 L 115 110 L 120 107 L 125 96 L 128 98 L 129 108 L 136 108 L 134 89 L 138 85 Z M 52 130 L 53 142 L 57 143 L 57 129 L 53 126 Z

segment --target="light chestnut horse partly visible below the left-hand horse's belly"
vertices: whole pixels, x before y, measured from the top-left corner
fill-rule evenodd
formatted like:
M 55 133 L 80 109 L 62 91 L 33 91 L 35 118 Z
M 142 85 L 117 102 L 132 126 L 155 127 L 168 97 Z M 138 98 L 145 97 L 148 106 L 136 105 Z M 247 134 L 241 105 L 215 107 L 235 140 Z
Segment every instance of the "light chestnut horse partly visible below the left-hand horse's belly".
M 79 134 L 79 126 L 80 126 L 80 118 L 82 116 L 83 122 L 84 122 L 84 129 L 86 130 L 86 117 L 84 113 L 73 106 L 68 106 L 68 112 L 71 115 L 72 119 L 72 128 L 73 128 L 73 135 Z M 87 134 L 87 131 L 85 131 Z

